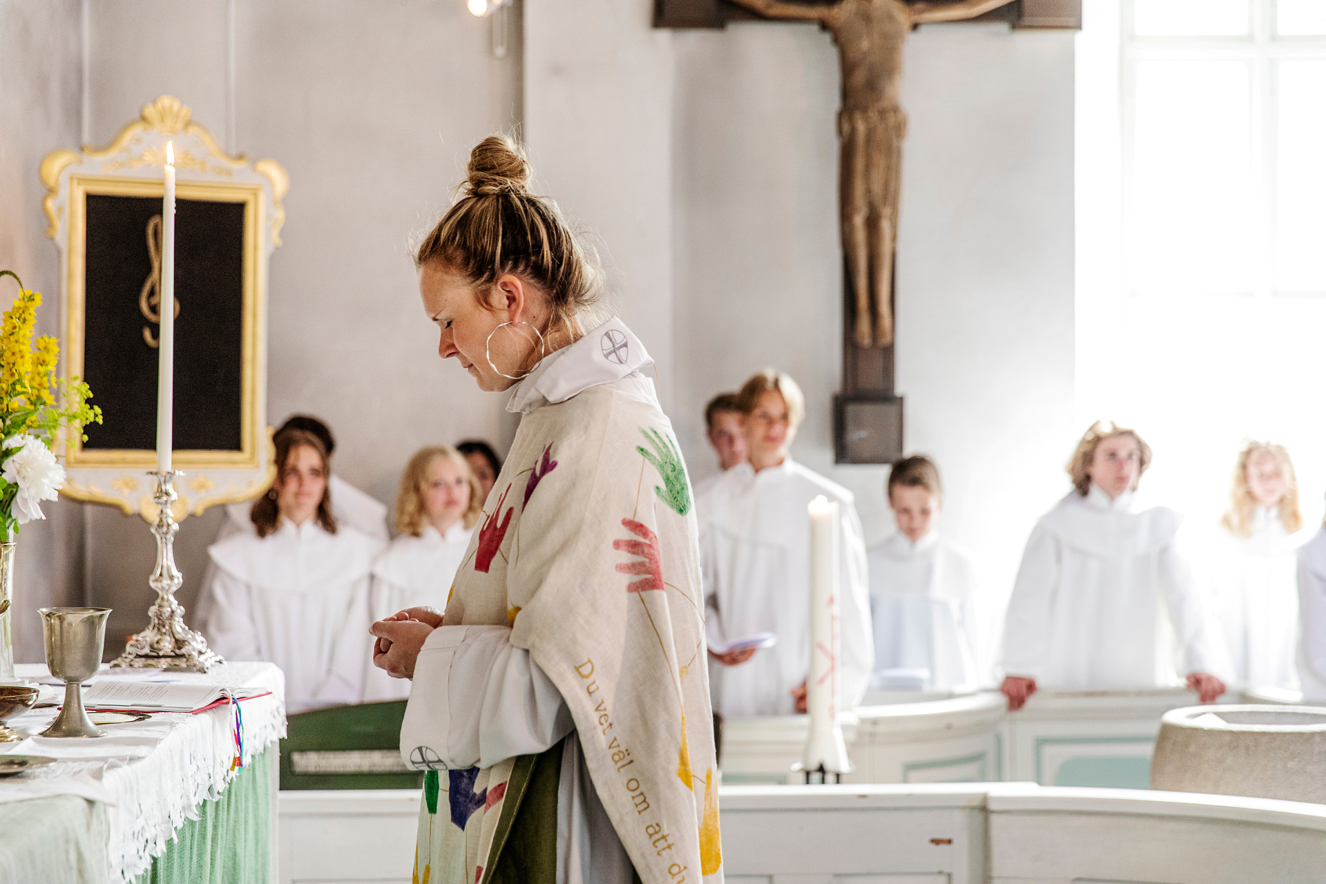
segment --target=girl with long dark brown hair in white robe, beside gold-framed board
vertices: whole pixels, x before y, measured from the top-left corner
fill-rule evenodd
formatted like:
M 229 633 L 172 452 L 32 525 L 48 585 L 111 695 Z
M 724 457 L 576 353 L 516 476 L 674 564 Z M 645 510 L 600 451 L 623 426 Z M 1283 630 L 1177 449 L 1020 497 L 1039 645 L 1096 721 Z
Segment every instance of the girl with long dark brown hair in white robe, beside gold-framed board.
M 282 431 L 255 530 L 208 547 L 217 566 L 208 641 L 227 660 L 277 664 L 292 713 L 359 702 L 371 648 L 369 569 L 381 543 L 337 525 L 329 473 L 317 436 Z

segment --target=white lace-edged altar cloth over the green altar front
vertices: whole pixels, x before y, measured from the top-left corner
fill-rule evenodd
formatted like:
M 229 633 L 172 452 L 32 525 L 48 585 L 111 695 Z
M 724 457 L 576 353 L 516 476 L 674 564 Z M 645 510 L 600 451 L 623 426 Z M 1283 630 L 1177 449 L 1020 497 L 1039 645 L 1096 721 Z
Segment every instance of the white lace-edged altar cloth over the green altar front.
M 44 664 L 17 665 L 20 679 L 49 679 Z M 267 697 L 244 700 L 244 754 L 248 763 L 285 736 L 285 677 L 271 663 L 227 663 L 206 675 L 137 671 L 95 677 L 164 677 L 227 688 L 260 688 Z M 123 671 L 115 671 L 121 673 Z M 62 698 L 62 692 L 58 694 Z M 16 730 L 37 733 L 54 708 L 32 709 L 9 721 Z M 235 757 L 235 709 L 216 706 L 199 714 L 162 712 L 147 721 L 103 725 L 106 737 L 57 740 L 29 737 L 0 744 L 0 753 L 48 755 L 54 765 L 0 778 L 0 802 L 49 795 L 80 795 L 106 804 L 110 824 L 109 880 L 131 881 L 166 850 L 186 819 L 216 798 L 239 771 Z

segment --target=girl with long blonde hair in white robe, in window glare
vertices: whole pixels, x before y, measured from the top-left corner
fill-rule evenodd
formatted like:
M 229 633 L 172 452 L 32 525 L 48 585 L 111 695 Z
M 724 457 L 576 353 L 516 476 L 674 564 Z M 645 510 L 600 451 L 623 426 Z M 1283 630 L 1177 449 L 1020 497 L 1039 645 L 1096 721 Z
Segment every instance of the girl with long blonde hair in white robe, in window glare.
M 1216 614 L 1240 684 L 1297 685 L 1294 550 L 1306 539 L 1298 537 L 1302 526 L 1289 452 L 1269 441 L 1244 445 L 1209 562 Z

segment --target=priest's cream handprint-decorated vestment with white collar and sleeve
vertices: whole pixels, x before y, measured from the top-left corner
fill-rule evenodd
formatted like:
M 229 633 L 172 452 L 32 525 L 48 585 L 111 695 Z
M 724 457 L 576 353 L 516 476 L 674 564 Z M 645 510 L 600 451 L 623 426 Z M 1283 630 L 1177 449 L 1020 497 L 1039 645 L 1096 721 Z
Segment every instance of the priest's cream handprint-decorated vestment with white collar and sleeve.
M 495 834 L 509 831 L 516 801 L 509 755 L 558 736 L 541 684 L 561 694 L 575 730 L 557 802 L 560 868 L 595 843 L 573 835 L 585 828 L 574 810 L 585 803 L 569 774 L 583 763 L 593 806 L 644 884 L 723 880 L 695 514 L 672 427 L 636 370 L 648 363 L 611 319 L 545 358 L 512 395 L 508 410 L 524 417 L 446 624 L 419 653 L 400 733 L 406 762 L 430 771 L 420 881 L 473 884 L 503 861 Z M 477 627 L 497 627 L 512 647 L 500 677 L 484 684 L 453 659 L 480 640 L 459 634 Z M 522 721 L 512 720 L 511 697 L 525 698 Z M 501 730 L 457 724 L 475 718 Z M 457 769 L 465 763 L 476 766 Z M 598 871 L 597 856 L 581 860 L 585 876 L 566 884 L 619 880 Z

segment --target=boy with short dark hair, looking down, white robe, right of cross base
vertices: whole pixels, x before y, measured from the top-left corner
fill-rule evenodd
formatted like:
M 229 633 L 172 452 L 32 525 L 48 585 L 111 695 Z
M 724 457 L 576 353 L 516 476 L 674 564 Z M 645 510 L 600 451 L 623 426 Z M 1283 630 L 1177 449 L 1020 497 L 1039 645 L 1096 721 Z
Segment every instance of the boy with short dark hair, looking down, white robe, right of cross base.
M 976 569 L 941 537 L 944 489 L 923 455 L 894 464 L 888 508 L 898 531 L 866 550 L 875 630 L 873 691 L 975 689 Z

